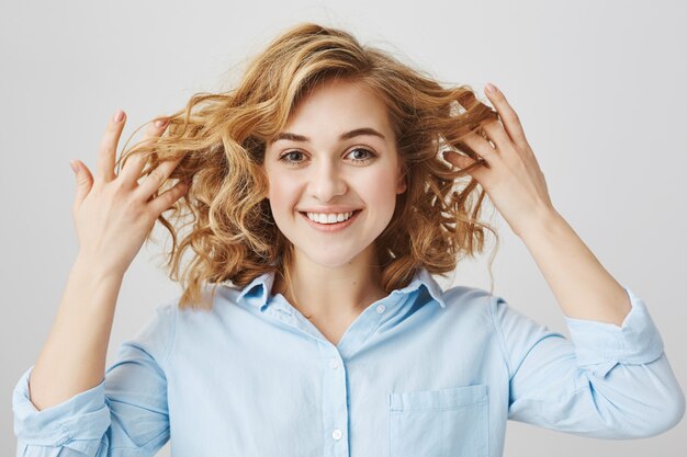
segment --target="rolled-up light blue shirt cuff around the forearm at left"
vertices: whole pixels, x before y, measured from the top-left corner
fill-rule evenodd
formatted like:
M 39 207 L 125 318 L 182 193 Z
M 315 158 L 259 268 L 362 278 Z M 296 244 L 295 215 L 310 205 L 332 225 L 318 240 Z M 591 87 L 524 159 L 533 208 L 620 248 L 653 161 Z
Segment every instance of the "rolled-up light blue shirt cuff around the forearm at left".
M 38 411 L 30 400 L 29 379 L 34 366 L 12 392 L 14 434 L 27 445 L 65 446 L 69 442 L 98 441 L 110 426 L 104 380 L 61 403 Z

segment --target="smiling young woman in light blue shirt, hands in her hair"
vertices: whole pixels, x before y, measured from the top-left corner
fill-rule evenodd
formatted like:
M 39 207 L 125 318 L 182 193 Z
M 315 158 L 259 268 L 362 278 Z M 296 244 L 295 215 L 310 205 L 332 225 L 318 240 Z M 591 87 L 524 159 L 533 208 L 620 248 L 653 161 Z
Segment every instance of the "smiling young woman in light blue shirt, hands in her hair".
M 554 209 L 504 93 L 485 95 L 495 111 L 302 24 L 117 163 L 119 112 L 95 175 L 75 162 L 80 251 L 14 391 L 18 455 L 151 456 L 171 439 L 179 456 L 481 457 L 503 454 L 508 419 L 615 438 L 675 425 L 684 396 L 644 302 Z M 485 194 L 572 341 L 432 277 L 482 252 Z M 105 370 L 156 219 L 183 293 Z

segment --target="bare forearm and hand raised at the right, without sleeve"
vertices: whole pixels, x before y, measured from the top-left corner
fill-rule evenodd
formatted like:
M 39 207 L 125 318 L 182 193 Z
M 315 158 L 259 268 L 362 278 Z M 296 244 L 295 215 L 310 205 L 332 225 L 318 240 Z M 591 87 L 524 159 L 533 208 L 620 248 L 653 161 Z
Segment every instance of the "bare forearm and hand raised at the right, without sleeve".
M 525 242 L 563 312 L 619 325 L 630 311 L 627 294 L 554 209 L 518 115 L 503 92 L 491 88 L 487 84 L 485 93 L 500 121 L 483 125 L 485 136 L 470 133 L 463 138 L 488 168 L 477 167 L 468 173 L 482 184 Z M 446 152 L 444 158 L 462 169 L 475 163 L 455 152 Z

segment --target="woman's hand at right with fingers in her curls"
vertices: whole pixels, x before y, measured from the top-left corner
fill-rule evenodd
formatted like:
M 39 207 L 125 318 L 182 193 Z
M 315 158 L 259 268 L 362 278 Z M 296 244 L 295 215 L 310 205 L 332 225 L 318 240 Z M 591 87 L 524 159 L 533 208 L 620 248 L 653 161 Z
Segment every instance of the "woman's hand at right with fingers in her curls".
M 480 155 L 488 164 L 475 168 L 468 173 L 484 187 L 494 206 L 518 236 L 555 214 L 549 196 L 547 181 L 527 142 L 522 125 L 510 107 L 503 92 L 485 94 L 496 108 L 500 121 L 482 125 L 489 142 L 483 136 L 471 132 L 461 140 Z M 461 169 L 475 162 L 468 156 L 446 151 L 443 157 Z

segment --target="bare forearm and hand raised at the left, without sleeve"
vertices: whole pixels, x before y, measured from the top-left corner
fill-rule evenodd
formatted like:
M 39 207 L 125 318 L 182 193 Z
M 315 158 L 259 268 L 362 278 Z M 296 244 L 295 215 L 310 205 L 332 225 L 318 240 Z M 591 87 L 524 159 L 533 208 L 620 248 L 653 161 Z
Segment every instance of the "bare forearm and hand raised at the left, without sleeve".
M 95 179 L 82 163 L 72 164 L 78 180 L 72 215 L 80 249 L 31 376 L 31 399 L 38 409 L 57 404 L 102 380 L 124 273 L 159 215 L 185 192 L 184 184 L 178 183 L 151 198 L 178 161 L 162 162 L 142 184 L 137 180 L 146 160 L 139 155 L 127 161 L 119 175 L 114 173 L 124 117 L 119 111 L 108 124 Z M 164 128 L 151 125 L 146 139 L 156 138 Z

